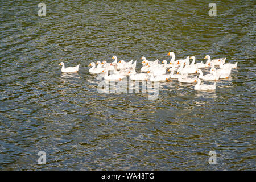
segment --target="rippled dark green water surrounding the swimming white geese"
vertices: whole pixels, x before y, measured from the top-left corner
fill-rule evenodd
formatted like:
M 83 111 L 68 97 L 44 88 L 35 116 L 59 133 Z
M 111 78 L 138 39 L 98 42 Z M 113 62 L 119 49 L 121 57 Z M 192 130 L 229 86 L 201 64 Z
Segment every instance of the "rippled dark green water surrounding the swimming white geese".
M 216 17 L 211 2 L 44 1 L 39 17 L 40 1 L 1 1 L 0 169 L 255 170 L 255 1 L 214 1 Z M 173 80 L 148 100 L 99 93 L 87 67 L 169 51 L 238 68 L 214 92 Z

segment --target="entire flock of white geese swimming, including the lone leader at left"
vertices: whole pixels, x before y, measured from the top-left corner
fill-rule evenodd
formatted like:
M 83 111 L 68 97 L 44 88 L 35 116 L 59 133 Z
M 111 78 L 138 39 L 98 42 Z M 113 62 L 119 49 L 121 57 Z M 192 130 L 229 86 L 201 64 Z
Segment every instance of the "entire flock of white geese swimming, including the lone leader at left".
M 162 64 L 159 64 L 159 60 L 148 61 L 146 57 L 141 57 L 142 67 L 141 73 L 137 73 L 136 64 L 137 61 L 133 60 L 126 62 L 124 60 L 117 60 L 117 56 L 113 56 L 114 60 L 112 63 L 107 63 L 106 61 L 97 61 L 90 63 L 89 66 L 92 68 L 89 69 L 90 73 L 95 74 L 104 74 L 105 80 L 122 80 L 126 76 L 129 76 L 130 80 L 150 80 L 152 82 L 158 81 L 170 81 L 170 79 L 177 79 L 179 82 L 183 83 L 194 83 L 197 82 L 194 89 L 195 90 L 216 90 L 216 82 L 213 85 L 201 84 L 201 80 L 219 80 L 230 77 L 231 69 L 237 68 L 237 62 L 235 64 L 225 63 L 226 58 L 220 59 L 210 59 L 210 56 L 207 55 L 204 59 L 207 59 L 205 63 L 201 61 L 200 63 L 195 63 L 195 56 L 187 56 L 186 59 L 175 60 L 174 52 L 169 52 L 167 56 L 172 57 L 170 63 L 167 63 L 166 60 L 162 61 Z M 189 59 L 192 59 L 190 63 Z M 63 62 L 62 72 L 78 72 L 79 65 L 76 67 L 65 68 Z M 97 67 L 96 67 L 97 65 Z M 219 69 L 215 67 L 218 66 Z M 205 74 L 201 68 L 210 68 L 209 73 Z M 109 74 L 110 72 L 110 74 Z M 171 72 L 171 73 L 167 73 Z M 188 77 L 189 74 L 199 74 L 196 77 Z

